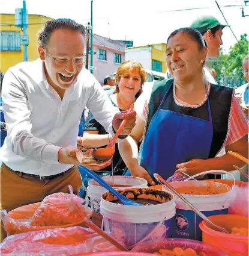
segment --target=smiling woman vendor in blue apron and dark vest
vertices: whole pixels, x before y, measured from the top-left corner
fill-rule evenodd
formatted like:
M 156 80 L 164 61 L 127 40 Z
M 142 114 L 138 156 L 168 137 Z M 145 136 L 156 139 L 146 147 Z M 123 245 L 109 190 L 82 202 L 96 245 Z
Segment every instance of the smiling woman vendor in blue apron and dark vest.
M 166 61 L 173 79 L 144 90 L 135 104 L 136 126 L 119 143 L 132 176 L 154 184 L 155 172 L 167 179 L 178 169 L 194 175 L 244 165 L 230 154 L 215 157 L 223 146 L 248 156 L 248 123 L 233 89 L 205 80 L 206 53 L 199 31 L 181 28 L 170 34 Z

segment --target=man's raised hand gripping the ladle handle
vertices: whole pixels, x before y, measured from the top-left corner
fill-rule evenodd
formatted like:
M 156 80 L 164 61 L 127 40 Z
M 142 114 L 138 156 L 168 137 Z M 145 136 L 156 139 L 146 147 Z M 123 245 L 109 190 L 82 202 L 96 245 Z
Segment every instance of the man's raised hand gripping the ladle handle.
M 133 127 L 136 123 L 136 112 L 133 110 L 130 113 L 128 113 L 128 110 L 119 112 L 115 114 L 112 120 L 112 126 L 115 131 L 118 131 L 118 128 L 124 119 L 128 119 L 126 125 L 124 126 L 124 129 L 121 132 L 121 135 L 129 135 L 131 133 L 131 130 L 133 130 Z

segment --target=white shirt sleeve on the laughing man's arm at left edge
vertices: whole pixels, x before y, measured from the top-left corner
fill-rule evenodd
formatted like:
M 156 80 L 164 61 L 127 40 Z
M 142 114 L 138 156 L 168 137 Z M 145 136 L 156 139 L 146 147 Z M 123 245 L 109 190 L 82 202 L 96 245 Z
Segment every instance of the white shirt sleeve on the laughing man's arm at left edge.
M 34 137 L 31 133 L 31 110 L 28 106 L 26 87 L 18 75 L 9 69 L 2 84 L 2 107 L 7 125 L 7 137 L 12 151 L 29 160 L 58 164 L 58 146 Z

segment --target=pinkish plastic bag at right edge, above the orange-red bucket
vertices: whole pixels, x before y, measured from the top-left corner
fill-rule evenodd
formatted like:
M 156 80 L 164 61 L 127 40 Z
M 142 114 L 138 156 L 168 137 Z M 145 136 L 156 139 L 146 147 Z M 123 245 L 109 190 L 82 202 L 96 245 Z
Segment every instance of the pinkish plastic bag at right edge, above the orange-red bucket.
M 236 185 L 234 191 L 235 199 L 228 209 L 229 214 L 238 214 L 248 217 L 248 183 Z

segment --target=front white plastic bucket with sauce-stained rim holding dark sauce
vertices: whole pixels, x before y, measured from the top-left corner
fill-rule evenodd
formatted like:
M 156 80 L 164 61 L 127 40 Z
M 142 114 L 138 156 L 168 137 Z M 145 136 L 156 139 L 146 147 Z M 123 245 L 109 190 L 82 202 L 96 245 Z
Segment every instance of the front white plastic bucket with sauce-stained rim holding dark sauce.
M 175 202 L 173 195 L 156 189 L 118 190 L 127 198 L 151 199 L 155 205 L 115 204 L 116 197 L 110 192 L 101 196 L 100 213 L 103 215 L 104 230 L 112 232 L 116 239 L 124 240 L 127 247 L 145 240 L 157 240 L 171 236 Z

